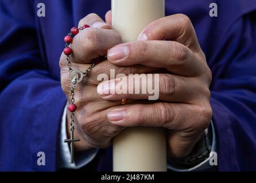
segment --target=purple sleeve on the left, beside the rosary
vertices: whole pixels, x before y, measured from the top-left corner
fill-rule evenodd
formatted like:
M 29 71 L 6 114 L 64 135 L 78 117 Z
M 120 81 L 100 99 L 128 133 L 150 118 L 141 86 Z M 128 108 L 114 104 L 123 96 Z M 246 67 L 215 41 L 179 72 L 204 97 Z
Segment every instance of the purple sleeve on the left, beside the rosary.
M 56 170 L 66 98 L 41 60 L 30 1 L 0 2 L 0 170 Z M 20 5 L 20 6 L 16 6 Z M 45 166 L 37 164 L 44 152 Z

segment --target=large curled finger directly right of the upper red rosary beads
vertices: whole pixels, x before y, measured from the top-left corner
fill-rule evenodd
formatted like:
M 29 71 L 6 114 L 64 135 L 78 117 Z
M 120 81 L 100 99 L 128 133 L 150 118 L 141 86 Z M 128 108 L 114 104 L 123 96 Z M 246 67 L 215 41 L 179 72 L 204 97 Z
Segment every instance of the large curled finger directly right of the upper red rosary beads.
M 106 55 L 108 49 L 121 42 L 121 35 L 117 31 L 89 27 L 73 38 L 72 61 L 91 63 L 92 59 Z

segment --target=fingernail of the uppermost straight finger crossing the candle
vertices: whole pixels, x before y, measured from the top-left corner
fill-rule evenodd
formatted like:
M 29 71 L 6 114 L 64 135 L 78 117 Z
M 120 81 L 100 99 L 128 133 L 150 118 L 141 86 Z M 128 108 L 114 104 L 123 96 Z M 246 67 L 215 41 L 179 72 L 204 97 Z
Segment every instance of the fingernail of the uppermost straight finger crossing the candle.
M 111 61 L 125 58 L 129 54 L 127 46 L 116 46 L 107 51 L 107 58 Z

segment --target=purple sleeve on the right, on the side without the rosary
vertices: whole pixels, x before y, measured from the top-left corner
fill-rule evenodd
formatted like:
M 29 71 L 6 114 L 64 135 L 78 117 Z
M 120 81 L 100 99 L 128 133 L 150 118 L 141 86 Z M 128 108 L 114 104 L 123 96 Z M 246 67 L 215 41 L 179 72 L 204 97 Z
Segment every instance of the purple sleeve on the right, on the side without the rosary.
M 211 106 L 219 170 L 256 170 L 255 13 L 220 35 L 213 57 Z

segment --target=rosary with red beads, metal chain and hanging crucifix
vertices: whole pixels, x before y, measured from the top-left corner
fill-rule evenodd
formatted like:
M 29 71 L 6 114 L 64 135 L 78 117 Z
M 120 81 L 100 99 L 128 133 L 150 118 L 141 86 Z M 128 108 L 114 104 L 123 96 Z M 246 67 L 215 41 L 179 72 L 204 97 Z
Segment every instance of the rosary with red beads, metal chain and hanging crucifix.
M 71 152 L 71 158 L 70 158 L 70 163 L 73 164 L 74 162 L 74 154 L 73 154 L 73 143 L 80 141 L 80 138 L 74 138 L 74 112 L 77 109 L 77 106 L 74 104 L 75 103 L 75 92 L 74 92 L 74 87 L 77 83 L 82 81 L 83 77 L 86 77 L 87 73 L 94 67 L 96 64 L 100 62 L 100 58 L 95 59 L 94 63 L 92 63 L 91 66 L 89 66 L 84 72 L 80 71 L 78 69 L 73 70 L 71 67 L 71 59 L 70 55 L 72 54 L 72 49 L 69 47 L 69 45 L 72 43 L 73 38 L 72 35 L 75 36 L 76 34 L 79 33 L 79 30 L 83 30 L 90 27 L 89 25 L 84 25 L 83 27 L 77 28 L 73 27 L 71 29 L 71 33 L 68 33 L 67 36 L 65 36 L 64 41 L 65 41 L 65 49 L 63 50 L 64 54 L 67 55 L 67 65 L 69 69 L 69 80 L 71 81 L 71 100 L 68 105 L 68 110 L 71 112 L 71 122 L 70 122 L 70 134 L 71 138 L 65 139 L 64 142 L 70 143 L 70 152 Z

